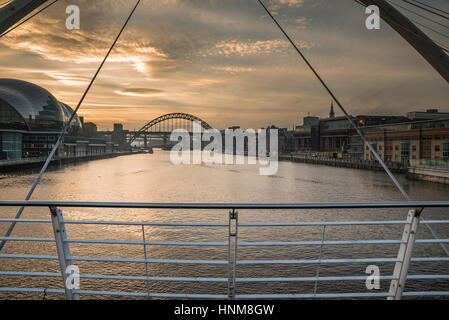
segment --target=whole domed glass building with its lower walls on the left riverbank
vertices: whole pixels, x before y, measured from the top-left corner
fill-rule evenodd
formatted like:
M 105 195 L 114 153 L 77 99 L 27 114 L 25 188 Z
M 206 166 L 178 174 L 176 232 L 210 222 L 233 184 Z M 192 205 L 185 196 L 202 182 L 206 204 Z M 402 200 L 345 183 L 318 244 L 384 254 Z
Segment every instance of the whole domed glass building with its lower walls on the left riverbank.
M 35 84 L 0 79 L 0 160 L 46 157 L 54 147 L 73 110 Z M 73 118 L 58 156 L 111 153 L 114 144 L 80 137 L 82 123 Z

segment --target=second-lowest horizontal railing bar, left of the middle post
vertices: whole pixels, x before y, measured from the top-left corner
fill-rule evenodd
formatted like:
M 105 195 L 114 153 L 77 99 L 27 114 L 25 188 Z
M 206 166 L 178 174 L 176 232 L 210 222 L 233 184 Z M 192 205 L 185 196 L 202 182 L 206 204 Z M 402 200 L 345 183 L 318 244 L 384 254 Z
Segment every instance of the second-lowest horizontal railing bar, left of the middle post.
M 61 273 L 50 272 L 17 272 L 17 271 L 0 271 L 2 276 L 14 277 L 61 277 Z M 150 280 L 161 282 L 228 282 L 227 278 L 206 278 L 206 277 L 146 277 L 146 276 L 113 276 L 113 275 L 96 275 L 96 274 L 80 274 L 81 279 L 108 279 L 108 280 Z

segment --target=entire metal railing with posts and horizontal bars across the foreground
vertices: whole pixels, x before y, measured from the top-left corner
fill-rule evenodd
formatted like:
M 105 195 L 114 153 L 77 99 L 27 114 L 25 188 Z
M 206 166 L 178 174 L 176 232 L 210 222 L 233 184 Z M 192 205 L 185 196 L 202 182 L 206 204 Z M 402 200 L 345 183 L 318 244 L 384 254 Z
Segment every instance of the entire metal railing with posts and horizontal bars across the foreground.
M 418 262 L 449 262 L 447 256 L 431 256 L 431 257 L 412 257 L 415 244 L 442 244 L 449 243 L 449 239 L 416 239 L 416 232 L 420 221 L 424 222 L 421 212 L 424 208 L 447 208 L 448 201 L 418 201 L 418 202 L 363 202 L 363 203 L 302 203 L 302 204 L 201 204 L 201 203 L 105 203 L 105 202 L 61 202 L 61 201 L 0 201 L 0 207 L 48 207 L 50 208 L 51 219 L 0 219 L 0 223 L 23 223 L 23 224 L 51 224 L 53 226 L 54 237 L 38 238 L 32 236 L 10 236 L 0 237 L 2 241 L 8 242 L 30 242 L 30 243 L 55 243 L 57 255 L 38 255 L 38 254 L 6 254 L 0 252 L 0 260 L 53 260 L 59 264 L 59 270 L 55 272 L 48 271 L 15 271 L 0 270 L 0 276 L 4 277 L 31 277 L 31 278 L 61 278 L 62 288 L 40 288 L 40 287 L 0 287 L 0 293 L 41 293 L 41 294 L 64 294 L 67 299 L 79 299 L 80 296 L 122 296 L 122 297 L 138 297 L 138 298 L 186 298 L 186 299 L 313 299 L 313 298 L 388 298 L 401 299 L 402 297 L 430 297 L 430 296 L 449 296 L 449 291 L 405 291 L 407 279 L 413 280 L 449 280 L 449 274 L 414 274 L 409 275 L 408 270 L 411 263 Z M 95 220 L 65 220 L 62 214 L 62 208 L 115 208 L 115 209 L 160 209 L 160 210 L 210 210 L 210 211 L 229 211 L 227 221 L 223 222 L 133 222 L 133 221 L 95 221 Z M 295 222 L 239 222 L 239 215 L 245 215 L 247 212 L 254 213 L 255 210 L 290 210 L 295 214 L 301 214 L 304 210 L 333 210 L 333 209 L 393 209 L 408 208 L 406 220 L 351 220 L 351 221 L 295 221 Z M 226 210 L 226 211 L 224 211 Z M 244 211 L 240 212 L 239 211 Z M 426 220 L 426 224 L 447 225 L 449 220 Z M 114 227 L 140 227 L 141 240 L 118 240 L 112 239 L 79 239 L 70 238 L 66 231 L 66 226 L 114 226 Z M 401 239 L 338 239 L 326 240 L 326 228 L 330 227 L 358 227 L 371 226 L 376 228 L 379 226 L 400 226 L 404 228 Z M 158 239 L 148 239 L 145 235 L 146 228 L 150 227 L 169 227 L 169 228 L 213 228 L 221 230 L 221 234 L 227 237 L 227 241 L 159 241 Z M 245 241 L 240 240 L 247 235 L 248 229 L 259 228 L 300 228 L 300 227 L 319 227 L 321 228 L 321 237 L 317 240 L 301 240 L 301 241 Z M 217 231 L 218 232 L 218 231 Z M 114 234 L 112 234 L 113 236 Z M 158 241 L 157 241 L 158 240 Z M 215 239 L 212 239 L 215 240 Z M 98 257 L 98 256 L 72 256 L 70 246 L 75 244 L 81 245 L 124 245 L 124 246 L 142 246 L 144 258 L 123 258 L 123 257 Z M 324 259 L 323 249 L 334 248 L 337 246 L 369 246 L 369 245 L 396 245 L 399 250 L 396 256 L 386 257 L 379 254 L 377 257 L 348 257 L 336 259 Z M 151 258 L 151 252 L 148 248 L 152 246 L 167 247 L 195 247 L 195 248 L 223 248 L 227 250 L 227 259 L 156 259 Z M 245 248 L 256 248 L 258 250 L 266 250 L 277 247 L 318 247 L 319 256 L 317 259 L 251 259 L 241 257 L 238 252 Z M 76 262 L 96 262 L 96 263 L 137 263 L 145 265 L 145 274 L 142 275 L 123 275 L 117 274 L 73 274 L 73 266 Z M 320 274 L 320 268 L 324 266 L 356 264 L 356 263 L 386 263 L 393 264 L 394 271 L 391 275 L 383 275 L 379 280 L 387 280 L 390 282 L 388 291 L 366 290 L 365 292 L 317 292 L 319 283 L 332 282 L 342 283 L 349 281 L 365 282 L 367 276 L 360 275 L 337 275 L 323 276 Z M 195 266 L 221 266 L 226 269 L 226 274 L 217 277 L 207 276 L 153 276 L 150 275 L 149 265 L 176 265 L 185 266 L 195 269 Z M 301 274 L 294 276 L 264 276 L 264 277 L 244 277 L 239 274 L 239 268 L 244 266 L 277 266 L 277 265 L 316 265 L 316 273 L 314 276 L 302 276 Z M 34 268 L 33 268 L 34 269 Z M 78 279 L 90 280 L 114 280 L 114 281 L 136 281 L 146 284 L 146 292 L 134 291 L 112 291 L 106 289 L 98 290 L 81 290 L 73 286 Z M 84 280 L 85 281 L 85 280 Z M 183 293 L 183 292 L 155 292 L 150 289 L 150 282 L 161 283 L 208 283 L 222 284 L 227 287 L 223 291 L 217 289 L 214 293 Z M 240 291 L 240 287 L 247 284 L 264 284 L 270 283 L 312 283 L 313 290 L 310 293 L 273 293 L 263 292 L 263 288 L 257 293 L 245 293 Z

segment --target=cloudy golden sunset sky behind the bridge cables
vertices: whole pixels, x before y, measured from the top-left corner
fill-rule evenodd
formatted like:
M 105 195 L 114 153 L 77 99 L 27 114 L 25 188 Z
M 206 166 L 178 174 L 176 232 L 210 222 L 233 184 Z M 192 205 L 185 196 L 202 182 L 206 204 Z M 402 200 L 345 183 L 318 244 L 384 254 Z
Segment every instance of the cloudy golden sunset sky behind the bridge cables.
M 368 15 L 355 1 L 264 3 L 350 114 L 449 111 L 447 82 L 385 22 L 366 29 Z M 446 0 L 428 3 L 449 10 Z M 33 82 L 76 107 L 134 4 L 59 0 L 0 39 L 1 77 Z M 69 5 L 80 8 L 80 30 L 66 28 Z M 449 46 L 448 38 L 422 30 Z M 330 102 L 256 0 L 143 0 L 78 113 L 100 130 L 118 122 L 139 129 L 171 112 L 217 129 L 292 128 L 304 116 L 327 116 Z

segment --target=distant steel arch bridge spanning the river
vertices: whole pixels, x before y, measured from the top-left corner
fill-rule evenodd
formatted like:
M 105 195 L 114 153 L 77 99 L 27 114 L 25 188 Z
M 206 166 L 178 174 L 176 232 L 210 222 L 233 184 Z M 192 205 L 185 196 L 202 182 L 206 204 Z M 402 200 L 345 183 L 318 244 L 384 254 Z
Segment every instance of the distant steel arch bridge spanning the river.
M 168 113 L 151 120 L 144 125 L 139 131 L 135 132 L 128 140 L 128 144 L 133 143 L 140 136 L 153 135 L 168 135 L 175 129 L 186 129 L 192 131 L 193 122 L 198 122 L 204 130 L 212 129 L 212 127 L 204 120 L 188 114 L 188 113 Z

